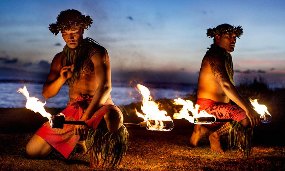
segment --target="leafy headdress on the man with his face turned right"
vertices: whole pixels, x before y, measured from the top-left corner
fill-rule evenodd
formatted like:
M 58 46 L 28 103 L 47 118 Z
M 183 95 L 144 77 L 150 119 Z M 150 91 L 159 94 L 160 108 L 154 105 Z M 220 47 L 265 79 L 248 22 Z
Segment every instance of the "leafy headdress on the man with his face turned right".
M 216 28 L 212 27 L 207 29 L 207 37 L 213 38 L 215 35 L 220 34 L 230 34 L 235 33 L 237 38 L 239 38 L 243 34 L 243 28 L 241 26 L 231 26 L 229 24 L 221 24 L 218 25 Z

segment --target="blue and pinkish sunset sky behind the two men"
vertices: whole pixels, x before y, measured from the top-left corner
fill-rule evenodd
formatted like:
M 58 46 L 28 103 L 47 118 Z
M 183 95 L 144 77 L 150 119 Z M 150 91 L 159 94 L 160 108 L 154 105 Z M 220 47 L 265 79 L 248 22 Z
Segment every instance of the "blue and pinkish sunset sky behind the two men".
M 93 24 L 84 37 L 104 46 L 114 79 L 196 82 L 213 42 L 207 28 L 241 25 L 232 52 L 236 74 L 285 81 L 285 1 L 13 1 L 0 5 L 0 67 L 34 72 L 48 68 L 65 45 L 48 30 L 60 11 L 77 9 Z M 124 73 L 124 74 L 120 74 Z M 158 76 L 155 76 L 158 74 Z M 126 78 L 125 78 L 126 79 Z

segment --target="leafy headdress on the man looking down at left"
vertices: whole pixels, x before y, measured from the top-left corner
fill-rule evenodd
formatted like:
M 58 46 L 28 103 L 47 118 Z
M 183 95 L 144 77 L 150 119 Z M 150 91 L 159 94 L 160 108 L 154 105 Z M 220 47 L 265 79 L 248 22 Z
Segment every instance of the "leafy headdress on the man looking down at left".
M 89 15 L 82 15 L 75 9 L 61 11 L 56 19 L 56 23 L 52 23 L 48 27 L 50 32 L 55 35 L 61 30 L 70 30 L 72 27 L 81 27 L 88 30 L 92 24 L 92 18 Z

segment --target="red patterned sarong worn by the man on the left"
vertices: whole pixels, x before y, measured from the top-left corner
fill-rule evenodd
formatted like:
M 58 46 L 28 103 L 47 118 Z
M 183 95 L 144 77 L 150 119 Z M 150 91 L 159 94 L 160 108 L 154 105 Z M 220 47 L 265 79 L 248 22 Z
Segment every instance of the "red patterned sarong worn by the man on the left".
M 79 121 L 91 100 L 92 98 L 88 95 L 80 95 L 76 99 L 68 101 L 66 109 L 61 112 L 65 115 L 65 120 Z M 95 130 L 105 113 L 110 110 L 116 110 L 121 113 L 120 109 L 115 106 L 111 100 L 111 95 L 105 104 L 99 108 L 89 120 L 85 121 L 85 123 Z M 52 129 L 50 123 L 46 122 L 38 129 L 36 134 L 58 150 L 65 158 L 69 156 L 80 139 L 79 135 L 74 134 L 74 125 L 69 124 L 64 124 L 63 129 Z

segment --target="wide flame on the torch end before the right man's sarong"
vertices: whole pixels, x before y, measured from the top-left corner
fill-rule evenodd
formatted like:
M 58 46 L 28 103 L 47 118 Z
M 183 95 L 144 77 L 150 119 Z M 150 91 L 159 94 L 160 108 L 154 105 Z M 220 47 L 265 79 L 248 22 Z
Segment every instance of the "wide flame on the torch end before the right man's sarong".
M 208 124 L 208 123 L 197 123 L 195 119 L 199 117 L 213 117 L 214 120 L 216 119 L 214 115 L 210 115 L 204 110 L 199 110 L 200 105 L 196 104 L 194 107 L 194 103 L 190 100 L 183 100 L 181 98 L 178 98 L 178 99 L 174 99 L 174 104 L 183 105 L 183 107 L 179 111 L 179 113 L 176 112 L 173 114 L 173 119 L 184 118 L 194 124 Z M 189 111 L 192 112 L 193 116 L 189 115 Z

